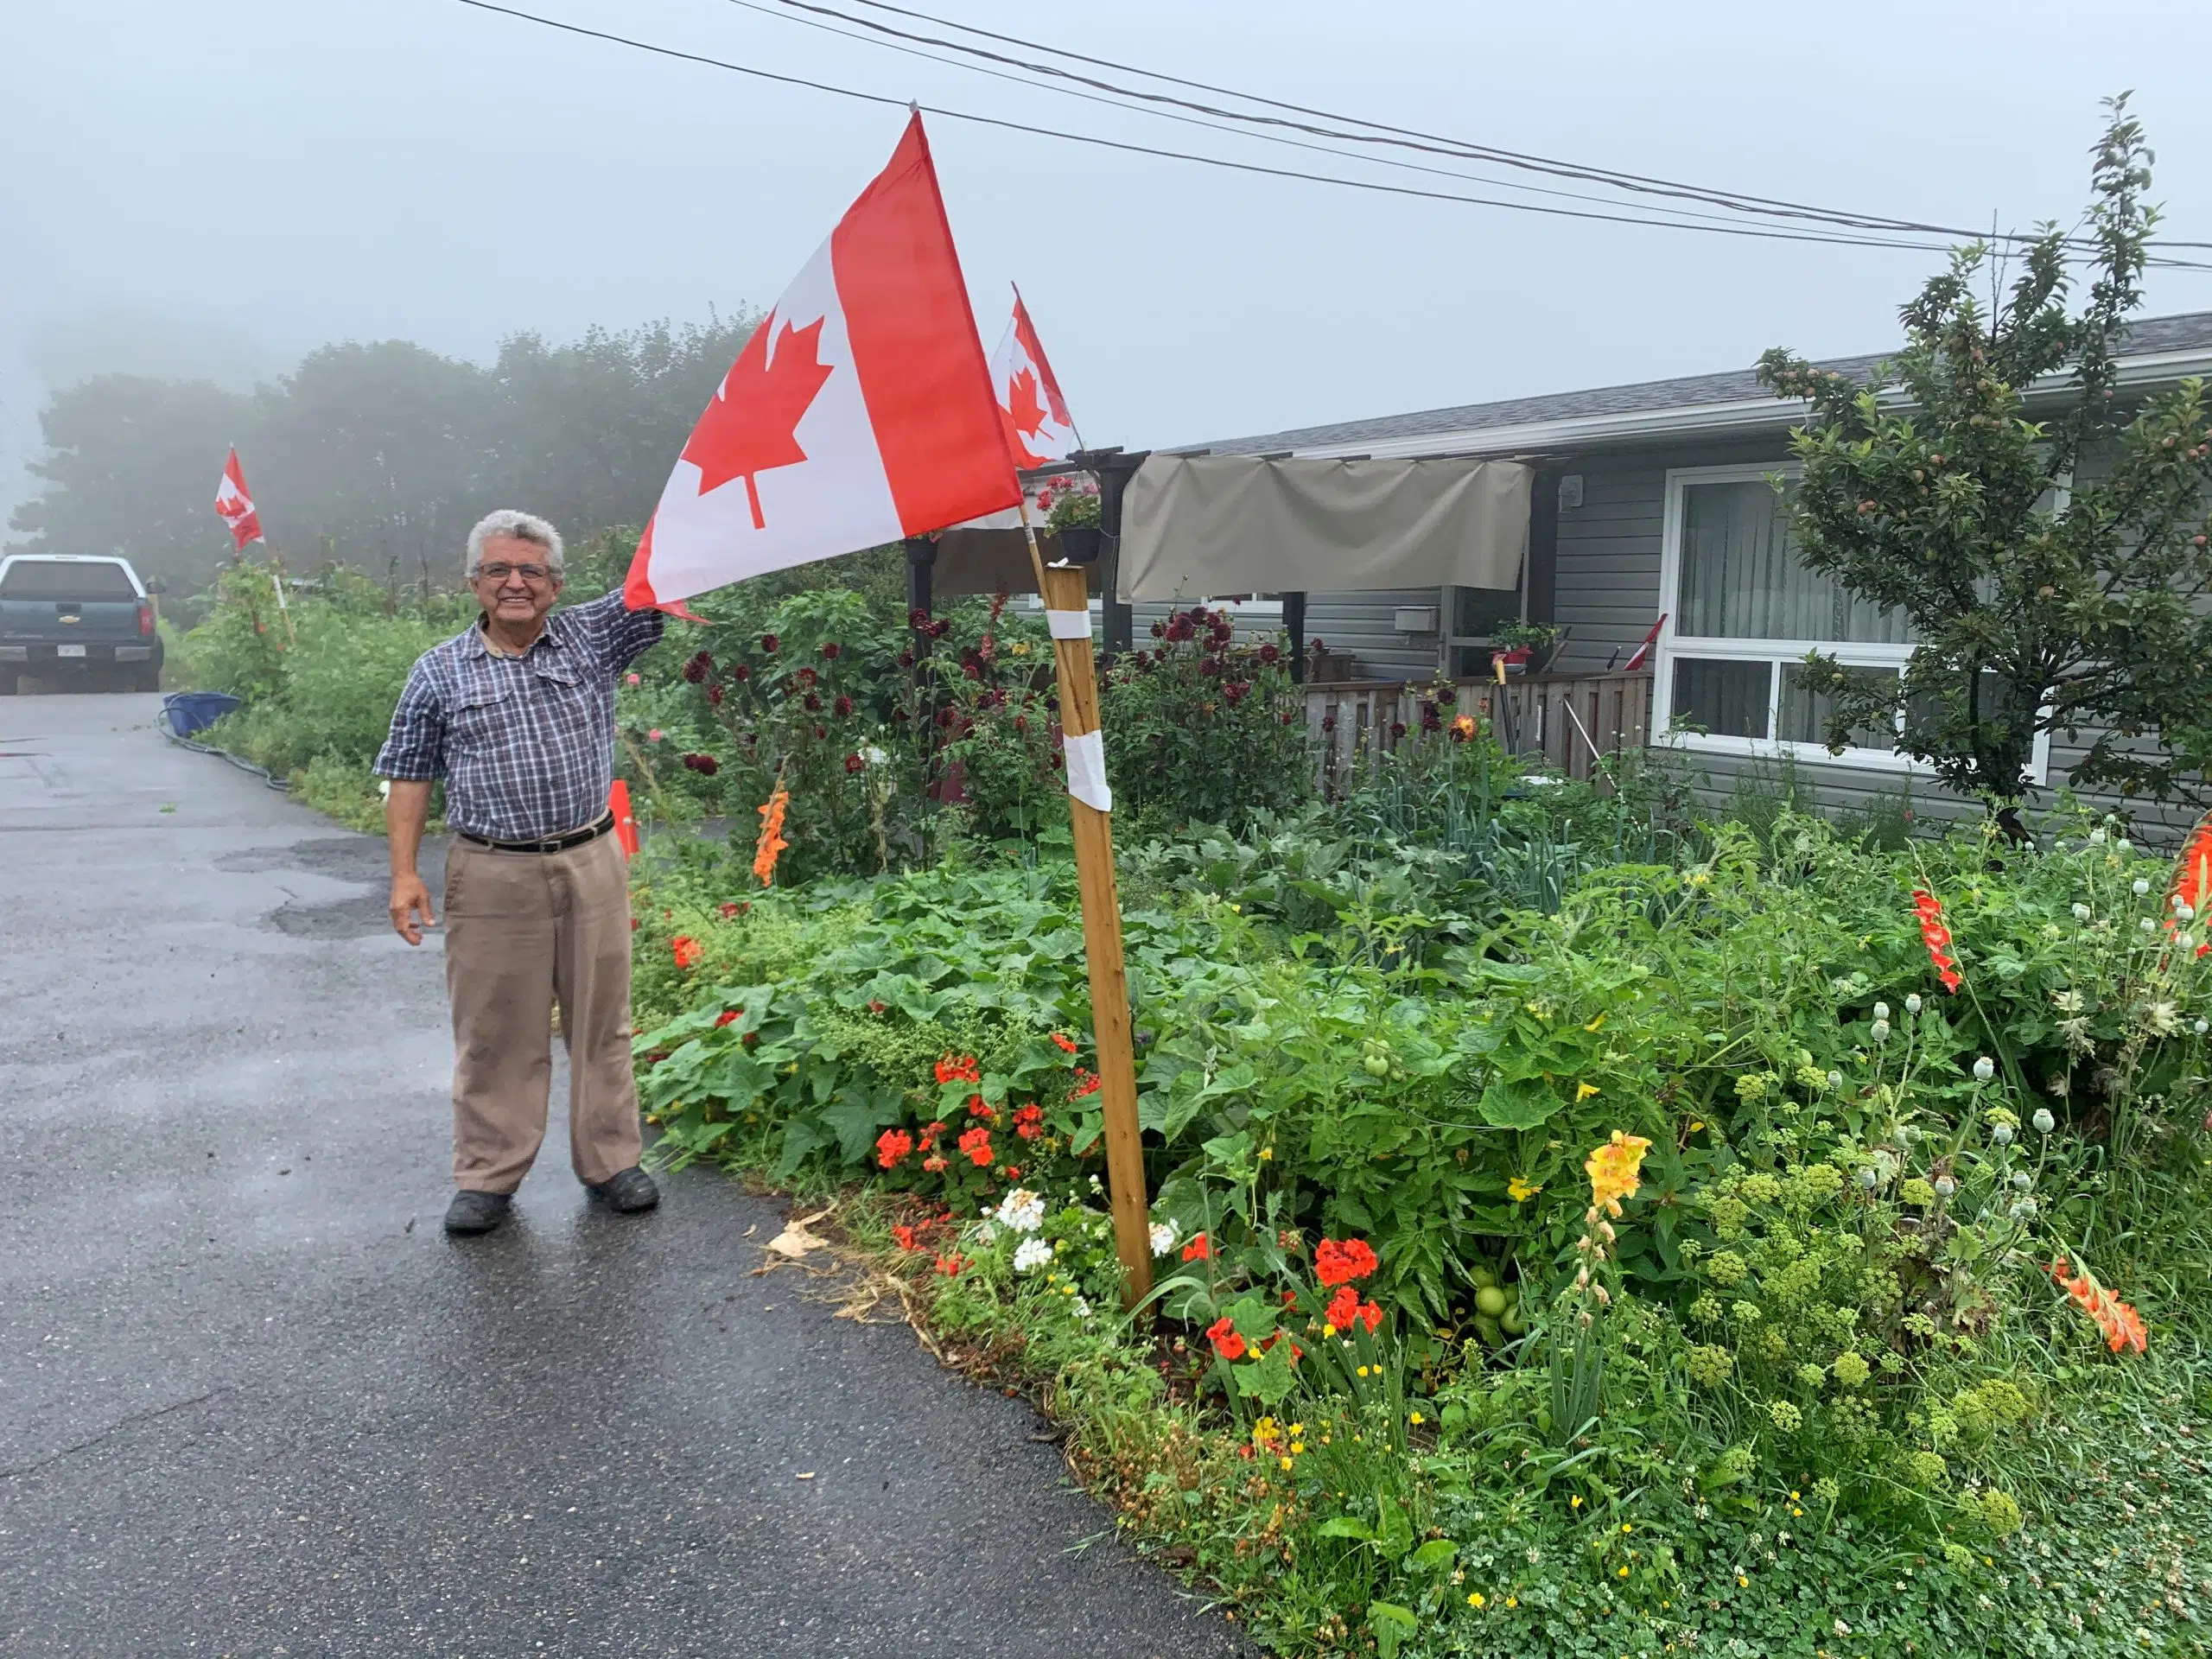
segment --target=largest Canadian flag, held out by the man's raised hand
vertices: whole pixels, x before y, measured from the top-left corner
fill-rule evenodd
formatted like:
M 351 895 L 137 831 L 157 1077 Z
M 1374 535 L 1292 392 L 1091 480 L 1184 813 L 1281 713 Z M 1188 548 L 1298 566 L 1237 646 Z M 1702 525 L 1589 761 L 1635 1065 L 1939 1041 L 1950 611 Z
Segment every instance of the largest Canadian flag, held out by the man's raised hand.
M 633 611 L 1013 507 L 920 113 L 737 354 L 637 542 Z

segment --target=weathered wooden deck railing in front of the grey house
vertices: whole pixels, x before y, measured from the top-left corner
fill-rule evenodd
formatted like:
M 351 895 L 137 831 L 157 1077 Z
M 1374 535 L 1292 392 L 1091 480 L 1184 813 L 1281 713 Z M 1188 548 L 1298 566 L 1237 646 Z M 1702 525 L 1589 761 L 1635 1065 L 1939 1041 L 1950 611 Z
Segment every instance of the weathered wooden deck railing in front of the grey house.
M 1475 714 L 1511 754 L 1546 759 L 1571 779 L 1601 779 L 1599 757 L 1650 739 L 1652 677 L 1540 675 L 1537 679 L 1458 679 L 1449 723 Z M 1438 681 L 1352 679 L 1305 688 L 1305 726 L 1321 750 L 1323 785 L 1356 781 L 1374 757 L 1420 737 L 1420 706 Z M 1433 741 L 1433 739 L 1431 739 Z

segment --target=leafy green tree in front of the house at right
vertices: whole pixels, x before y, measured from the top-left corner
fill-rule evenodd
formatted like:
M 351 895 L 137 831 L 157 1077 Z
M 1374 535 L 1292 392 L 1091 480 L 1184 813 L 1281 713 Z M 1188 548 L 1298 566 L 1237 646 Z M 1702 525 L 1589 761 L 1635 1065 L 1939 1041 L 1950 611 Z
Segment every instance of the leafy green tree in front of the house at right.
M 1792 436 L 1798 557 L 1902 613 L 1916 641 L 1902 679 L 1807 657 L 1832 750 L 1896 728 L 1898 750 L 2006 825 L 2044 732 L 2090 739 L 2077 787 L 2201 801 L 2212 759 L 2212 416 L 2201 380 L 2117 396 L 2159 212 L 2141 124 L 2124 97 L 2108 108 L 2086 226 L 2044 226 L 2002 299 L 2002 259 L 1975 243 L 1905 307 L 1909 343 L 1869 380 L 1759 361 L 1772 392 L 1812 405 Z

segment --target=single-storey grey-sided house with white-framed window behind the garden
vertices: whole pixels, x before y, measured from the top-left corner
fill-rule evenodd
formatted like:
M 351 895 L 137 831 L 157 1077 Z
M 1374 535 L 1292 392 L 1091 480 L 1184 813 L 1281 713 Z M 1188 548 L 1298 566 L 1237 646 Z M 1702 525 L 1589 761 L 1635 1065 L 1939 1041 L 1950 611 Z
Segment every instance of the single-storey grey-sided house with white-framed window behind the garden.
M 1880 356 L 1858 356 L 1823 367 L 1865 374 L 1876 363 Z M 2141 319 L 2128 330 L 2124 396 L 2188 376 L 2212 376 L 2212 312 Z M 2064 396 L 2051 387 L 2031 392 L 2028 403 L 2048 407 Z M 1584 675 L 1626 661 L 1666 615 L 1650 734 L 1697 757 L 1712 785 L 1725 790 L 1745 768 L 1790 759 L 1825 805 L 1863 805 L 1907 787 L 1933 796 L 1933 783 L 1916 783 L 1924 768 L 1893 750 L 1829 754 L 1825 712 L 1796 690 L 1794 664 L 1812 648 L 1869 672 L 1896 672 L 1911 655 L 1891 617 L 1790 555 L 1767 478 L 1792 471 L 1790 427 L 1801 418 L 1801 403 L 1774 398 L 1750 369 L 1734 369 L 1270 431 L 1181 453 L 1522 458 L 1537 467 L 1537 480 L 1515 591 L 1312 593 L 1305 637 L 1349 653 L 1367 679 L 1473 677 L 1489 661 L 1489 628 L 1526 617 L 1564 626 L 1551 670 Z M 1146 622 L 1135 617 L 1139 635 Z M 1681 723 L 1703 730 L 1674 730 Z M 2037 783 L 2062 783 L 2070 754 L 2064 741 L 2046 741 Z

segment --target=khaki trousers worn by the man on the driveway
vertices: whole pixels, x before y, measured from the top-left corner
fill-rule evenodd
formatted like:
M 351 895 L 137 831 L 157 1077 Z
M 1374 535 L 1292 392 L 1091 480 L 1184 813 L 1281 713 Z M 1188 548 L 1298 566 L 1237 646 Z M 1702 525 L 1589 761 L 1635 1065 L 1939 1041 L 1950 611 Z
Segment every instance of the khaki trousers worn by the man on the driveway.
M 546 1133 L 555 1002 L 568 1046 L 568 1161 L 591 1183 L 637 1164 L 630 891 L 619 841 L 493 852 L 456 836 L 445 860 L 445 929 L 453 1186 L 522 1186 Z

